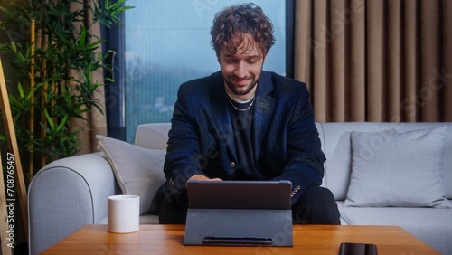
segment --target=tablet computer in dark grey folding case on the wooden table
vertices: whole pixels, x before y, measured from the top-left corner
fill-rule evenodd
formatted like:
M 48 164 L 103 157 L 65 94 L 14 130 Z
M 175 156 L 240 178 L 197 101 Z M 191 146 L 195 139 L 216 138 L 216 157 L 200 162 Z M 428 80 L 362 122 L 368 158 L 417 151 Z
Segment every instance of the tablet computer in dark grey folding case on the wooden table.
M 293 246 L 289 181 L 189 181 L 184 245 Z

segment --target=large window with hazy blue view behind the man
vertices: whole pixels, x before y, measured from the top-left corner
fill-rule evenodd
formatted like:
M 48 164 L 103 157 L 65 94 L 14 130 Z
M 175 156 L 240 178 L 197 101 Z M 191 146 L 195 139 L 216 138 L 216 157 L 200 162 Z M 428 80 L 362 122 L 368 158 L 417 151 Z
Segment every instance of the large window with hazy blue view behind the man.
M 286 75 L 286 1 L 255 1 L 276 38 L 264 70 Z M 129 0 L 125 14 L 125 139 L 142 123 L 170 122 L 179 85 L 219 71 L 211 46 L 213 16 L 237 0 Z M 110 38 L 111 40 L 111 38 Z

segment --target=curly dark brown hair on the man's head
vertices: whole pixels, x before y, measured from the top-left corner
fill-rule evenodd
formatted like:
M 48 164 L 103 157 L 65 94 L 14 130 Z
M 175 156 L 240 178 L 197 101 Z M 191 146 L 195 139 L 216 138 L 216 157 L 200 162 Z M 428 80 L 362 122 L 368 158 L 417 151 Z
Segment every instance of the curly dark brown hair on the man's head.
M 259 55 L 266 55 L 275 43 L 273 24 L 255 4 L 234 5 L 215 14 L 211 35 L 212 48 L 217 56 L 220 56 L 222 46 L 233 54 L 240 47 L 245 51 L 258 47 Z M 243 42 L 247 45 L 242 45 Z

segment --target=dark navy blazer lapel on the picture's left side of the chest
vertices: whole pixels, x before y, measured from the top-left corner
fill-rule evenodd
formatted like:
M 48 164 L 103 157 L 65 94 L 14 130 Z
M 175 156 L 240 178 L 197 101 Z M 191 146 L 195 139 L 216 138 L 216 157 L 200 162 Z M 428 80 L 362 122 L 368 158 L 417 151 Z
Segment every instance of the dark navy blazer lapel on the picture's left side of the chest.
M 221 143 L 225 143 L 231 150 L 232 156 L 237 159 L 231 114 L 228 109 L 228 101 L 220 71 L 215 73 L 211 87 L 211 109 L 212 118 L 215 119 L 216 129 L 218 130 L 215 138 L 220 139 Z

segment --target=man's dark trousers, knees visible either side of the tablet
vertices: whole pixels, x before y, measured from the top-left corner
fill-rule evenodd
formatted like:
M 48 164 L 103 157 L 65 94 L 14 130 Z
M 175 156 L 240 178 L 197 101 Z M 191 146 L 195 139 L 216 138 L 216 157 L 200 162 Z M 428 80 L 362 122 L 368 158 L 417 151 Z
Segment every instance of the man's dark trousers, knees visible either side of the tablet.
M 164 197 L 161 203 L 160 224 L 185 224 L 187 206 Z M 334 196 L 323 187 L 309 187 L 292 207 L 294 224 L 340 225 L 340 215 Z

